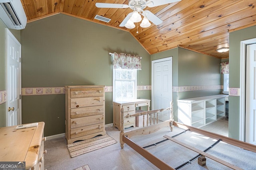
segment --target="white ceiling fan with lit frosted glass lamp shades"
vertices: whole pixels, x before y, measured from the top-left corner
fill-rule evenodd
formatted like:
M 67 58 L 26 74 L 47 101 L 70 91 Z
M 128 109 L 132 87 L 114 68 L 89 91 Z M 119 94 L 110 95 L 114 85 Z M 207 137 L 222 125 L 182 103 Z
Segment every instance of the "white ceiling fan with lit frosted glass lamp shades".
M 149 10 L 143 10 L 147 6 L 149 8 L 170 4 L 173 2 L 178 2 L 180 0 L 129 0 L 128 5 L 127 4 L 108 4 L 108 3 L 96 3 L 96 7 L 98 8 L 131 8 L 133 12 L 129 13 L 126 18 L 120 23 L 120 27 L 126 27 L 126 28 L 134 28 L 134 22 L 140 22 L 142 20 L 141 15 L 144 16 L 142 23 L 140 24 L 140 27 L 149 27 L 151 23 L 154 23 L 155 25 L 159 25 L 162 23 L 162 20 L 155 16 L 152 12 Z

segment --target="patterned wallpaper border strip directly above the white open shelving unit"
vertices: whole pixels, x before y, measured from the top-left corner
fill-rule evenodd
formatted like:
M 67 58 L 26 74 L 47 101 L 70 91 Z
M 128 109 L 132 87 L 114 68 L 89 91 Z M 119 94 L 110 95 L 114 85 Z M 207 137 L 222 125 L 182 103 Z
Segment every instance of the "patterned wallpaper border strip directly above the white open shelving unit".
M 223 89 L 221 85 L 211 85 L 211 86 L 173 86 L 173 92 L 189 92 L 197 90 L 220 90 Z

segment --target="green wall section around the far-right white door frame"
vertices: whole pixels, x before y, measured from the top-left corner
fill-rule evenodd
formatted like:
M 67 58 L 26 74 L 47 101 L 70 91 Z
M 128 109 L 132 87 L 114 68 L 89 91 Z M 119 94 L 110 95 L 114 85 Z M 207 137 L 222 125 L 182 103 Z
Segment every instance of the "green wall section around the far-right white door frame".
M 229 34 L 229 87 L 240 88 L 240 43 L 256 38 L 256 26 L 248 27 Z M 240 96 L 229 96 L 228 127 L 229 137 L 239 139 Z

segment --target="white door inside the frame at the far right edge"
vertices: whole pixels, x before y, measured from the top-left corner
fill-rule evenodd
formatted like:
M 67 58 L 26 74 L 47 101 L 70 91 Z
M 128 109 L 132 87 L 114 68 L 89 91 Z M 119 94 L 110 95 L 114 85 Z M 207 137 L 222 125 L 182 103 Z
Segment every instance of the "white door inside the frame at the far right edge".
M 256 44 L 246 46 L 245 142 L 256 145 Z

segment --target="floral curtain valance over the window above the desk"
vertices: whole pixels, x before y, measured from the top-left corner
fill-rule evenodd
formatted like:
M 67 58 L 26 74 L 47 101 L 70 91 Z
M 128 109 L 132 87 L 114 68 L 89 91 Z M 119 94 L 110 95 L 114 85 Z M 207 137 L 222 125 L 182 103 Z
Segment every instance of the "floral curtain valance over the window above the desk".
M 141 61 L 140 56 L 138 55 L 130 55 L 124 53 L 114 53 L 114 68 L 122 68 L 122 69 L 137 69 L 141 70 Z

